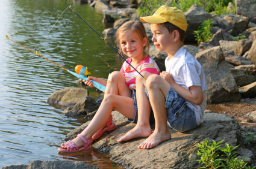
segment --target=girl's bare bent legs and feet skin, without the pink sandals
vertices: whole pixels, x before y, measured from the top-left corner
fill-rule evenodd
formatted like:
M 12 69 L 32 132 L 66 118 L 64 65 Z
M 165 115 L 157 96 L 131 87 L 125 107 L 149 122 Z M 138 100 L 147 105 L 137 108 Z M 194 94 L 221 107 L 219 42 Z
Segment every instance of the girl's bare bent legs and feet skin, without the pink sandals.
M 95 132 L 105 126 L 113 109 L 130 119 L 133 119 L 135 116 L 134 99 L 131 98 L 131 90 L 126 85 L 123 75 L 119 72 L 114 72 L 113 75 L 111 82 L 107 84 L 107 94 L 105 93 L 104 99 L 93 117 L 92 122 L 81 132 L 81 135 L 83 135 L 86 140 L 90 140 Z M 117 94 L 121 94 L 121 96 Z M 78 147 L 83 147 L 84 145 L 81 138 L 76 137 L 72 141 Z M 66 147 L 63 146 L 62 148 L 65 149 Z

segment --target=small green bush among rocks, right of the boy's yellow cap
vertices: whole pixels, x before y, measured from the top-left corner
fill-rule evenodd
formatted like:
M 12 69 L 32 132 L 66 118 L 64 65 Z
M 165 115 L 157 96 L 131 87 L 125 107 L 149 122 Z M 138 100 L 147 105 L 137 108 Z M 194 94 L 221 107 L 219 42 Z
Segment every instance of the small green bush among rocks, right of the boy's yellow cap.
M 198 31 L 194 31 L 193 34 L 195 34 L 195 40 L 198 41 L 198 45 L 201 42 L 208 43 L 208 41 L 211 40 L 213 37 L 213 34 L 211 33 L 211 28 L 213 28 L 213 19 L 205 20 L 198 28 Z

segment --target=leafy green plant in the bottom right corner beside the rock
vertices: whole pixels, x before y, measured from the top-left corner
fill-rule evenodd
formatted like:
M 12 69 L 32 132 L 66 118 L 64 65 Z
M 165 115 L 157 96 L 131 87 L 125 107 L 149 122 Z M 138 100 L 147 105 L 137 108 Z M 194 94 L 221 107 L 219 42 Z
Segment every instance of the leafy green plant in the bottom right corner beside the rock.
M 231 146 L 226 143 L 225 147 L 221 147 L 220 144 L 222 142 L 223 140 L 216 143 L 216 141 L 213 140 L 213 143 L 208 143 L 208 140 L 206 139 L 203 144 L 198 144 L 197 147 L 199 147 L 199 150 L 196 155 L 201 156 L 201 159 L 198 160 L 199 164 L 204 164 L 204 167 L 201 168 L 251 168 L 246 166 L 248 162 L 245 162 L 245 159 L 239 160 L 236 157 L 237 152 L 232 153 L 232 151 L 239 146 L 231 149 Z M 224 158 L 219 158 L 220 152 L 224 153 L 224 155 L 221 155 Z M 252 167 L 252 169 L 253 168 L 255 167 Z

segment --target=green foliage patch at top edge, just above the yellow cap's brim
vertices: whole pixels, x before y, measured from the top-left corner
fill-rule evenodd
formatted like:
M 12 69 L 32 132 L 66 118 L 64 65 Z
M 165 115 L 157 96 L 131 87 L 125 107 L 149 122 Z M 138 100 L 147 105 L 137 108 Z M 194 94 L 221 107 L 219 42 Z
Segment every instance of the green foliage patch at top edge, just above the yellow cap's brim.
M 166 0 L 157 1 L 157 0 L 143 0 L 139 8 L 137 8 L 137 14 L 139 17 L 142 16 L 151 16 L 154 12 L 164 4 Z

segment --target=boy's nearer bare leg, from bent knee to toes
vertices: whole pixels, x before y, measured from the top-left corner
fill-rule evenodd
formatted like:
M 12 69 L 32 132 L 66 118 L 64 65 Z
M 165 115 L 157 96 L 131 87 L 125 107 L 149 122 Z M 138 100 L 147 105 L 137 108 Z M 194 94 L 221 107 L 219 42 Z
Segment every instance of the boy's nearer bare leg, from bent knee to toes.
M 170 85 L 163 77 L 152 75 L 146 81 L 146 87 L 149 93 L 149 101 L 154 111 L 155 130 L 138 146 L 139 149 L 150 149 L 171 138 L 167 127 L 167 112 L 165 108 L 166 96 Z

